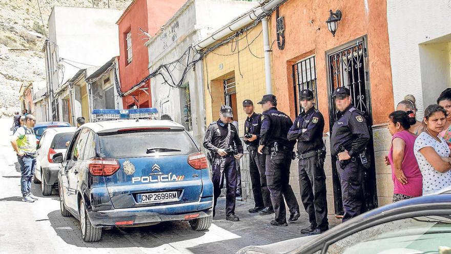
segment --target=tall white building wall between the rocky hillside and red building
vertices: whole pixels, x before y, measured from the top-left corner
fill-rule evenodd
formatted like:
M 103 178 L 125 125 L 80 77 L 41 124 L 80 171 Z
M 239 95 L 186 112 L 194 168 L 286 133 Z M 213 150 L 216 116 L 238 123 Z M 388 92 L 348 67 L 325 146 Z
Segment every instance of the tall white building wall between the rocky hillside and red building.
M 49 17 L 51 56 L 47 60 L 50 65 L 47 71 L 54 91 L 79 69 L 102 66 L 119 55 L 116 21 L 121 14 L 122 11 L 116 9 L 61 6 L 52 9 Z M 60 58 L 68 61 L 60 61 Z M 50 85 L 49 81 L 47 83 Z M 77 111 L 76 105 L 75 113 Z

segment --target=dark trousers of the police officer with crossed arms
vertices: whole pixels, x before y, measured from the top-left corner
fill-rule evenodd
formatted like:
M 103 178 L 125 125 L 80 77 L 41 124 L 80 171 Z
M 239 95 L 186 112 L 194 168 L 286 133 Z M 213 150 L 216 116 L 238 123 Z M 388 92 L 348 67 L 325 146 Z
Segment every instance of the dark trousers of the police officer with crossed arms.
M 324 167 L 317 167 L 317 161 L 317 155 L 299 160 L 299 189 L 310 224 L 314 228 L 327 230 L 326 176 Z

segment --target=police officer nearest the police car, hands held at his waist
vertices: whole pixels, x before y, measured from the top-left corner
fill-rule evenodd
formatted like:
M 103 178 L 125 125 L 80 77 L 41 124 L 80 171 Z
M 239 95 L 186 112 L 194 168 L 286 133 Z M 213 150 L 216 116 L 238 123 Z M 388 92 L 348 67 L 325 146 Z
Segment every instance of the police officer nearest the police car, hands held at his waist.
M 238 136 L 238 130 L 232 123 L 232 108 L 229 106 L 221 106 L 219 120 L 213 122 L 207 129 L 203 140 L 203 147 L 210 150 L 214 155 L 212 160 L 212 181 L 214 190 L 213 217 L 216 212 L 216 203 L 221 189 L 224 184 L 224 177 L 227 182 L 226 194 L 226 220 L 239 221 L 235 215 L 235 199 L 236 199 L 236 159 L 240 159 L 243 155 L 243 146 Z M 234 154 L 234 150 L 237 154 Z

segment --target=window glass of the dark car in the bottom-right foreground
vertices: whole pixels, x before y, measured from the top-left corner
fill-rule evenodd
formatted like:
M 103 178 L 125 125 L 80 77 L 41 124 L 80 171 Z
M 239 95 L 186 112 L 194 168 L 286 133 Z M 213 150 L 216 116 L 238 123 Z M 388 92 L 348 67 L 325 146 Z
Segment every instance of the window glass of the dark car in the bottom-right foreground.
M 326 253 L 442 253 L 443 248 L 451 251 L 449 239 L 449 216 L 413 217 L 356 232 L 331 244 Z

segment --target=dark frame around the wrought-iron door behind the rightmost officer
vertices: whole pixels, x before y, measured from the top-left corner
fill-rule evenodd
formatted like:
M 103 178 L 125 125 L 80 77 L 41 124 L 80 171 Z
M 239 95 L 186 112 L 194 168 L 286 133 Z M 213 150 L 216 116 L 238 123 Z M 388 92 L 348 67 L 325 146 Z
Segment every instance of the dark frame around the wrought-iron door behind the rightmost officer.
M 348 47 L 351 47 L 353 45 L 356 45 L 357 43 L 362 43 L 363 46 L 363 65 L 364 65 L 364 82 L 365 82 L 365 96 L 366 96 L 366 106 L 367 106 L 367 114 L 368 118 L 366 119 L 368 122 L 368 132 L 370 133 L 370 142 L 367 145 L 367 153 L 370 155 L 370 163 L 371 163 L 371 169 L 374 170 L 372 174 L 374 175 L 374 181 L 371 183 L 370 181 L 366 181 L 366 173 L 365 173 L 365 181 L 364 181 L 364 194 L 366 195 L 367 191 L 366 189 L 370 188 L 368 184 L 371 184 L 371 187 L 373 188 L 373 197 L 367 197 L 365 196 L 365 204 L 366 209 L 374 209 L 378 207 L 378 201 L 377 201 L 377 186 L 376 186 L 376 166 L 374 162 L 374 140 L 373 140 L 373 110 L 372 110 L 372 102 L 371 102 L 371 79 L 370 79 L 370 67 L 369 67 L 369 56 L 368 56 L 368 39 L 367 35 L 363 35 L 360 37 L 355 38 L 354 40 L 341 44 L 340 46 L 337 46 L 335 48 L 326 50 L 324 52 L 325 57 L 325 67 L 326 67 L 326 84 L 327 84 L 327 102 L 329 103 L 329 133 L 332 134 L 332 126 L 333 126 L 333 116 L 334 116 L 334 108 L 333 105 L 334 101 L 332 99 L 333 94 L 333 86 L 334 84 L 331 84 L 331 70 L 330 70 L 330 60 L 329 56 L 337 53 L 339 51 L 342 51 L 343 49 L 346 49 Z M 353 98 L 353 102 L 354 102 Z M 331 135 L 330 135 L 330 142 L 332 141 Z M 369 149 L 368 149 L 369 148 Z M 339 181 L 339 176 L 336 168 L 336 159 L 334 159 L 334 156 L 331 156 L 332 161 L 332 183 L 333 183 L 333 190 L 334 190 L 334 206 L 335 206 L 335 214 L 342 215 L 343 214 L 343 203 L 342 203 L 342 197 L 341 197 L 341 184 Z

